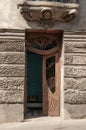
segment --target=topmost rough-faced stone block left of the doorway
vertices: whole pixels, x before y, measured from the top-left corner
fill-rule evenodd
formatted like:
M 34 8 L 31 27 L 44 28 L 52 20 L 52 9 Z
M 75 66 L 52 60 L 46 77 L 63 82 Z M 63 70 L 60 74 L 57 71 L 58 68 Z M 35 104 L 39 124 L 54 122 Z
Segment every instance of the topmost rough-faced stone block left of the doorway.
M 25 51 L 25 42 L 24 41 L 0 41 L 0 52 L 24 52 Z

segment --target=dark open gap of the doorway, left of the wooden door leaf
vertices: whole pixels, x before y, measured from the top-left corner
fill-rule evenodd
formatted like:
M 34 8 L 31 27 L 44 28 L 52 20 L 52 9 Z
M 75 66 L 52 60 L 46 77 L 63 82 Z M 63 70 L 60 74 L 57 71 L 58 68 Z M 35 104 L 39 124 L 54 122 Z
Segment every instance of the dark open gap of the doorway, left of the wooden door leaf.
M 42 115 L 42 55 L 27 51 L 27 111 Z

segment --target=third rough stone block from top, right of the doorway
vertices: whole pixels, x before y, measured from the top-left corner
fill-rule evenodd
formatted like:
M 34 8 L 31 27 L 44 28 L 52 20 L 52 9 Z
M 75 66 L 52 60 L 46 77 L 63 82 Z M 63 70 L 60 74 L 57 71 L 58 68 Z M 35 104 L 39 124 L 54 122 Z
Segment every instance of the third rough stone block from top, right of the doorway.
M 65 77 L 86 77 L 86 66 L 65 66 L 64 67 Z

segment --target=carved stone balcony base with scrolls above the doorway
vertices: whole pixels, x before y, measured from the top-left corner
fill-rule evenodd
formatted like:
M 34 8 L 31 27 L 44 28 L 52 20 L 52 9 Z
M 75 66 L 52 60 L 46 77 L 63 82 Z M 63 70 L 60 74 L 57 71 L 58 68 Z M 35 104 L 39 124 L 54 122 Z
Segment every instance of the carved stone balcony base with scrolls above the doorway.
M 38 22 L 44 28 L 52 27 L 55 21 L 69 22 L 78 14 L 78 3 L 28 1 L 19 5 L 20 13 L 27 22 Z

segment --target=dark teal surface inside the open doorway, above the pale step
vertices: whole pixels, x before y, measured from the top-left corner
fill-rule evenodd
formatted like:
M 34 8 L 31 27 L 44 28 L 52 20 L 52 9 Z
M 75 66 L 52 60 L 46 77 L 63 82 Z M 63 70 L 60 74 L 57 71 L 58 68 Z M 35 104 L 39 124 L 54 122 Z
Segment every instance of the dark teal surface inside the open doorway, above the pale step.
M 27 102 L 42 102 L 42 56 L 28 52 Z

